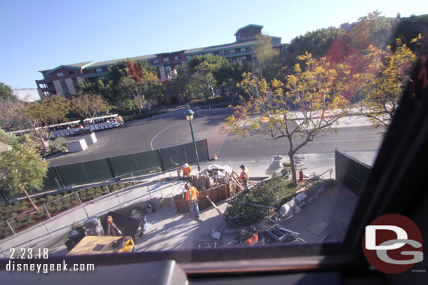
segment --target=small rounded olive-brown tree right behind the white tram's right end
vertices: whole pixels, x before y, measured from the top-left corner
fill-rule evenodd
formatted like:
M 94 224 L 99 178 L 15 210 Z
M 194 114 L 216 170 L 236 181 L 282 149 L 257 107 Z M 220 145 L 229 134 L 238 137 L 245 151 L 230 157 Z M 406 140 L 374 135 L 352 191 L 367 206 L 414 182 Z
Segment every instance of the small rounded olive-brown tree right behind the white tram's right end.
M 103 112 L 108 113 L 110 106 L 98 94 L 79 94 L 72 98 L 71 107 L 81 118 L 92 118 Z

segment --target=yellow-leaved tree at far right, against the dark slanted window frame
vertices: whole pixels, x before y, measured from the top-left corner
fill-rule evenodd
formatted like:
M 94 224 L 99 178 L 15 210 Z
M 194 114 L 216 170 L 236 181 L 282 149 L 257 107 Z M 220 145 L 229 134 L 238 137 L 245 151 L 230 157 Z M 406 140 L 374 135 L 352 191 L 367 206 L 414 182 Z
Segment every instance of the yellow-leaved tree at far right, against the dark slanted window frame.
M 410 81 L 415 55 L 397 39 L 395 53 L 390 46 L 386 50 L 369 46 L 365 57 L 370 62 L 368 68 L 355 76 L 361 82 L 361 113 L 375 127 L 386 126 L 391 122 Z

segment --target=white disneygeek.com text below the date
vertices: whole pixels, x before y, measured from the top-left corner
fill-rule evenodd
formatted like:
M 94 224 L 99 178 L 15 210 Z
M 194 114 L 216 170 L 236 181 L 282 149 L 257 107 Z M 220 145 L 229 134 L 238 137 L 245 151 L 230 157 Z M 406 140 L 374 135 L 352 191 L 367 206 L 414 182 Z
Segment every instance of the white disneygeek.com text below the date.
M 65 260 L 62 263 L 19 263 L 15 260 L 9 260 L 6 264 L 6 271 L 10 272 L 37 272 L 47 274 L 49 272 L 67 272 L 67 271 L 81 271 L 90 272 L 95 271 L 93 264 L 72 264 L 68 265 Z

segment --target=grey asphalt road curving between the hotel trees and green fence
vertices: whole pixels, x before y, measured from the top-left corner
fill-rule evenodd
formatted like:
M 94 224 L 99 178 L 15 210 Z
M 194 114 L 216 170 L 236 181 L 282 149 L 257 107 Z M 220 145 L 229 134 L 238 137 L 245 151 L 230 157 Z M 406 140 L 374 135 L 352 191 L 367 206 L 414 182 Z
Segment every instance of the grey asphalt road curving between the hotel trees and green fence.
M 133 121 L 111 130 L 95 132 L 98 142 L 86 151 L 65 153 L 48 159 L 51 165 L 66 165 L 75 162 L 114 157 L 152 149 L 174 146 L 192 141 L 189 122 L 183 115 L 185 109 L 172 111 L 148 120 Z M 210 155 L 219 158 L 239 160 L 242 158 L 273 157 L 286 155 L 287 139 L 272 141 L 263 137 L 250 137 L 234 141 L 236 135 L 220 131 L 225 118 L 231 111 L 196 111 L 193 126 L 196 140 L 208 139 Z M 76 139 L 69 137 L 68 140 Z M 301 139 L 295 140 L 297 145 Z M 297 153 L 330 153 L 341 151 L 375 151 L 381 143 L 379 129 L 370 126 L 340 127 L 337 133 L 317 138 Z

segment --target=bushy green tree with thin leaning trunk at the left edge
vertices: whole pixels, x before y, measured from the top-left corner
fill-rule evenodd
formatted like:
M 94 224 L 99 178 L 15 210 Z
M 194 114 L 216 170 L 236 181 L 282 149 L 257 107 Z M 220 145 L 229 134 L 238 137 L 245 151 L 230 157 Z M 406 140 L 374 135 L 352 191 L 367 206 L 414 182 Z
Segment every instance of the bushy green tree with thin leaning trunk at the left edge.
M 0 130 L 0 141 L 12 146 L 11 151 L 0 153 L 0 188 L 10 195 L 25 193 L 37 209 L 28 192 L 43 188 L 48 162 L 40 157 L 35 148 L 21 144 L 19 140 L 15 135 Z

